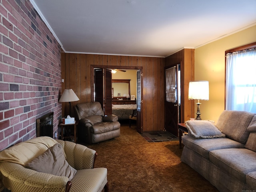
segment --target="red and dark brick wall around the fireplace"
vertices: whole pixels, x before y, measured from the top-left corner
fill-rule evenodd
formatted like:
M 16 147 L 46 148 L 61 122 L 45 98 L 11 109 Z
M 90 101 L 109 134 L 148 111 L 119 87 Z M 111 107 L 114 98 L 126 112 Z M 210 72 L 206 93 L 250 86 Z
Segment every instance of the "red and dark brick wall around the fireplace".
M 0 150 L 36 137 L 36 119 L 61 116 L 60 45 L 29 0 L 0 0 Z

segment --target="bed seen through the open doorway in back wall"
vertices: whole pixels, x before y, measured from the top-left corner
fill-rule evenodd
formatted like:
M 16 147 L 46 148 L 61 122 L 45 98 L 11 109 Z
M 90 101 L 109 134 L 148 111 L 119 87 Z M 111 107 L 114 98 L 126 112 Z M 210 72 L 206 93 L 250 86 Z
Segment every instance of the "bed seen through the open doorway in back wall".
M 129 119 L 136 108 L 136 104 L 112 105 L 112 114 L 118 116 L 118 120 Z

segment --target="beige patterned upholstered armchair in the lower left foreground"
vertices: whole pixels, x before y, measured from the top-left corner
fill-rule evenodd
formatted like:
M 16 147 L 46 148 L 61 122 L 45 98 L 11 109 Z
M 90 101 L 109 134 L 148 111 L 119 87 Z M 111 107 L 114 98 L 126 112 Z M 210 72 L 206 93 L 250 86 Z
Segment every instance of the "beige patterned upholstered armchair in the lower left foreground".
M 55 146 L 60 148 L 56 149 L 63 155 L 62 160 L 74 170 L 72 178 L 36 171 L 51 167 L 49 161 L 35 170 L 26 168 L 31 162 L 38 162 L 38 157 L 52 152 Z M 4 186 L 12 192 L 102 192 L 103 189 L 108 192 L 107 169 L 93 168 L 96 155 L 95 150 L 86 146 L 50 137 L 20 142 L 0 152 L 0 189 Z M 58 160 L 52 168 L 56 166 L 64 165 Z

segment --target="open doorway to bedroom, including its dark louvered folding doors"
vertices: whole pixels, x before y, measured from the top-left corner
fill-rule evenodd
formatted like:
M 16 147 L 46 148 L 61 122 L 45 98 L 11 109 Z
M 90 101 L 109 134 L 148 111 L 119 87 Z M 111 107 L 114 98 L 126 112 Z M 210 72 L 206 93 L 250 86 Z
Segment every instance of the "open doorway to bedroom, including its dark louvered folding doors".
M 99 72 L 101 71 L 102 72 Z M 109 73 L 111 72 L 111 85 Z M 141 125 L 141 83 L 142 67 L 128 66 L 92 66 L 91 70 L 91 93 L 94 101 L 102 103 L 105 114 L 118 116 L 122 124 L 129 122 L 129 116 L 133 110 L 137 110 L 136 130 L 142 132 Z M 102 77 L 103 76 L 103 77 Z M 107 78 L 106 78 L 107 77 Z M 111 108 L 110 108 L 111 106 Z

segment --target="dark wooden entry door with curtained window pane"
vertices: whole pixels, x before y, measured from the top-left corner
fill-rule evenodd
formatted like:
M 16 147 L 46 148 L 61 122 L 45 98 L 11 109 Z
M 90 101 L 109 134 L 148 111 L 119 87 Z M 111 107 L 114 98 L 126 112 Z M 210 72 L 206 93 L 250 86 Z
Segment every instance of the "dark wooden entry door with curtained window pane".
M 178 65 L 166 69 L 165 129 L 178 136 L 179 102 L 178 102 Z

